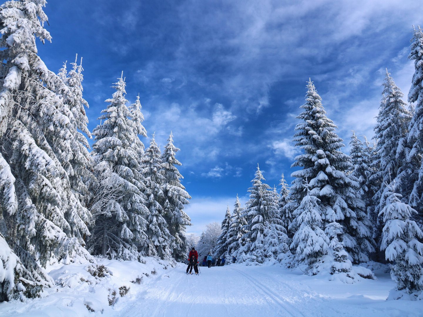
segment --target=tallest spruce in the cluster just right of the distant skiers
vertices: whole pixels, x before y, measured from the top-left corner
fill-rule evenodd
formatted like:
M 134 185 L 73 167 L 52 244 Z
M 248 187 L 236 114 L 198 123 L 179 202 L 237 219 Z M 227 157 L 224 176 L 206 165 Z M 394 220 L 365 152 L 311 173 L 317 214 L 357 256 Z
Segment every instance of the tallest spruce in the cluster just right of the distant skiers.
M 269 219 L 274 219 L 277 204 L 275 197 L 270 191 L 270 186 L 263 183 L 265 180 L 261 174 L 260 168 L 257 166 L 255 178 L 251 181 L 250 199 L 247 202 L 247 214 L 250 222 L 246 226 L 246 231 L 242 237 L 245 245 L 239 249 L 240 253 L 244 253 L 246 258 L 239 257 L 244 261 L 255 261 L 263 263 L 267 254 L 264 250 L 264 239 L 266 226 L 269 224 Z

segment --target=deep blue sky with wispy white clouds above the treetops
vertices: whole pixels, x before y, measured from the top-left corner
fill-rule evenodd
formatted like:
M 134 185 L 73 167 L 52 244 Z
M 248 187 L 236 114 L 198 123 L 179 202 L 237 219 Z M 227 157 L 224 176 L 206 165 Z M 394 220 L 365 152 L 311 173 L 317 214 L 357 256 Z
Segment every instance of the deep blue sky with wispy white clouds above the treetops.
M 246 201 L 257 163 L 270 186 L 291 180 L 309 78 L 345 144 L 352 129 L 371 137 L 385 67 L 407 96 L 412 25 L 423 25 L 409 0 L 63 0 L 45 12 L 53 39 L 39 55 L 55 72 L 83 57 L 90 130 L 124 71 L 148 136 L 163 146 L 173 131 L 189 233 L 222 221 L 236 194 Z

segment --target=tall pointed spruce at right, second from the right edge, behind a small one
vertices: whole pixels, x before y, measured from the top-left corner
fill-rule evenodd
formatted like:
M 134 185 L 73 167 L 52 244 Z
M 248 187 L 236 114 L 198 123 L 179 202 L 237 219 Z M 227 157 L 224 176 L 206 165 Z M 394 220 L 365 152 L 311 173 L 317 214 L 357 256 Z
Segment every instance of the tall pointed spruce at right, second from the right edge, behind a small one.
M 375 224 L 373 236 L 379 246 L 383 224 L 378 214 L 385 205 L 385 199 L 381 199 L 382 193 L 386 184 L 396 178 L 398 168 L 401 167 L 401 162 L 396 157 L 397 148 L 400 139 L 404 139 L 407 136 L 411 119 L 407 104 L 402 100 L 404 95 L 395 85 L 388 71 L 386 71 L 385 81 L 382 86 L 382 100 L 376 117 L 377 123 L 374 127 L 375 150 L 377 153 L 377 159 L 374 164 L 379 167 L 379 170 L 371 176 L 373 182 L 377 179 L 376 182 L 381 184 L 373 197 L 375 209 L 371 215 L 371 221 Z

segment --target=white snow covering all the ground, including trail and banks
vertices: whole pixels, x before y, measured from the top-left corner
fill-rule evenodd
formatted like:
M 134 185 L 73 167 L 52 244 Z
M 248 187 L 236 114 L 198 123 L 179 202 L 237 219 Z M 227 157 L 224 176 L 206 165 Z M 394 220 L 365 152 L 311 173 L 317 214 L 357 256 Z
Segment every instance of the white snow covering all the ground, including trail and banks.
M 57 265 L 51 271 L 58 287 L 25 303 L 0 303 L 0 316 L 421 316 L 419 301 L 385 301 L 394 287 L 386 267 L 376 280 L 354 284 L 305 276 L 280 265 L 200 267 L 148 258 L 146 264 L 98 260 L 109 273 L 94 277 L 88 264 Z M 92 271 L 92 270 L 91 270 Z M 156 271 L 157 273 L 154 273 Z M 153 273 L 151 273 L 153 272 Z M 132 283 L 142 277 L 140 284 Z M 130 287 L 121 297 L 119 288 Z M 109 290 L 110 289 L 110 290 Z M 113 306 L 108 298 L 116 290 Z M 90 312 L 88 309 L 94 310 Z

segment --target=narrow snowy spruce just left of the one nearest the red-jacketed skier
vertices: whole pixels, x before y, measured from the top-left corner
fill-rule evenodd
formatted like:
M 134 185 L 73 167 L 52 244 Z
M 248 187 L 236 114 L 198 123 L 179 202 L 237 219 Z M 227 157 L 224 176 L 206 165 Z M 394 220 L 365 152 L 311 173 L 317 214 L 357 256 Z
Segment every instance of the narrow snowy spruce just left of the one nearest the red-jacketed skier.
M 163 193 L 163 183 L 165 177 L 160 174 L 163 168 L 160 149 L 157 146 L 155 135 L 151 137 L 150 146 L 146 149 L 141 160 L 141 167 L 143 168 L 143 175 L 146 179 L 146 206 L 149 210 L 147 217 L 147 235 L 149 243 L 146 249 L 148 256 L 157 255 L 162 259 L 170 258 L 171 246 L 174 242 L 174 237 L 170 235 L 168 224 L 166 222 L 165 210 L 163 202 L 165 196 Z

